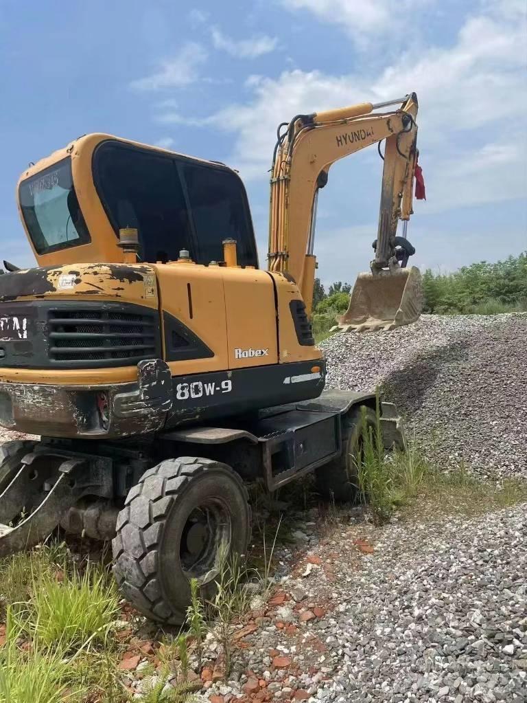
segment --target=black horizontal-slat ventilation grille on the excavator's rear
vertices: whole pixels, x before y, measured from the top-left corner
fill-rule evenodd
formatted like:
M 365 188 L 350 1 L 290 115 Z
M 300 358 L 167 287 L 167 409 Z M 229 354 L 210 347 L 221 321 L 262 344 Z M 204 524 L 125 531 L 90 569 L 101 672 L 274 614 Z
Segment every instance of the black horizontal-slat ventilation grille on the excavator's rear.
M 121 307 L 121 306 L 119 306 Z M 48 316 L 48 358 L 55 365 L 119 366 L 159 354 L 156 311 L 53 309 Z

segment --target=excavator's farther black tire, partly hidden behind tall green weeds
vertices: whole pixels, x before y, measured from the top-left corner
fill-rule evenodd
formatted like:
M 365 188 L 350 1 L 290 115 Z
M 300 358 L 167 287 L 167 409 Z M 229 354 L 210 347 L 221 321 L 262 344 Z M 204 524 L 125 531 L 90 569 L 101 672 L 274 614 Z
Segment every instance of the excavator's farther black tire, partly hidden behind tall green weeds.
M 366 408 L 366 427 L 375 430 L 375 411 Z M 323 498 L 337 503 L 354 503 L 359 496 L 363 422 L 361 408 L 342 418 L 342 453 L 315 472 L 316 489 Z

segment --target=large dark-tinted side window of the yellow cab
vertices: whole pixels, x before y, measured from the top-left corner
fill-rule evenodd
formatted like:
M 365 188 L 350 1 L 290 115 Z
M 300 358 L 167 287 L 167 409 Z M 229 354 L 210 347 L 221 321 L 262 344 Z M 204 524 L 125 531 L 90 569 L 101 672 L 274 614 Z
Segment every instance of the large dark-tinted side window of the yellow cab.
M 244 186 L 229 169 L 127 143 L 102 142 L 93 156 L 95 188 L 116 235 L 138 229 L 145 262 L 223 260 L 222 240 L 235 239 L 241 266 L 258 266 Z

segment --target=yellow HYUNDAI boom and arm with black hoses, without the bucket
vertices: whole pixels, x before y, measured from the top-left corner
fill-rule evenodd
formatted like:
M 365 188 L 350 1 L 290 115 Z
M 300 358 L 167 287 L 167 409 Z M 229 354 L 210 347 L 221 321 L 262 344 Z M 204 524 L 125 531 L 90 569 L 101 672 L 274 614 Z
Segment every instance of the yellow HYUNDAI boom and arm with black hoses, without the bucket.
M 394 104 L 401 108 L 372 114 Z M 399 219 L 408 220 L 412 212 L 417 112 L 417 96 L 411 93 L 387 103 L 297 115 L 286 131 L 280 132 L 285 124 L 279 127 L 271 179 L 269 270 L 287 271 L 295 278 L 308 312 L 316 267 L 313 250 L 318 191 L 326 185 L 335 161 L 382 140 L 386 146 L 371 271 L 380 276 L 386 269 L 396 273 L 399 268 L 394 238 Z M 393 288 L 390 294 L 393 296 Z

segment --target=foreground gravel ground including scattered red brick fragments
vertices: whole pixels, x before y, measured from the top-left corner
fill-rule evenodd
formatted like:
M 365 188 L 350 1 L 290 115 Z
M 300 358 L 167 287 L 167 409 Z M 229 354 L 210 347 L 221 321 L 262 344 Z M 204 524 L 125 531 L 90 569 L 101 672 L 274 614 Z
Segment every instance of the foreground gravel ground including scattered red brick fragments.
M 295 565 L 236 636 L 229 681 L 206 684 L 214 703 L 527 700 L 527 504 L 305 525 Z

